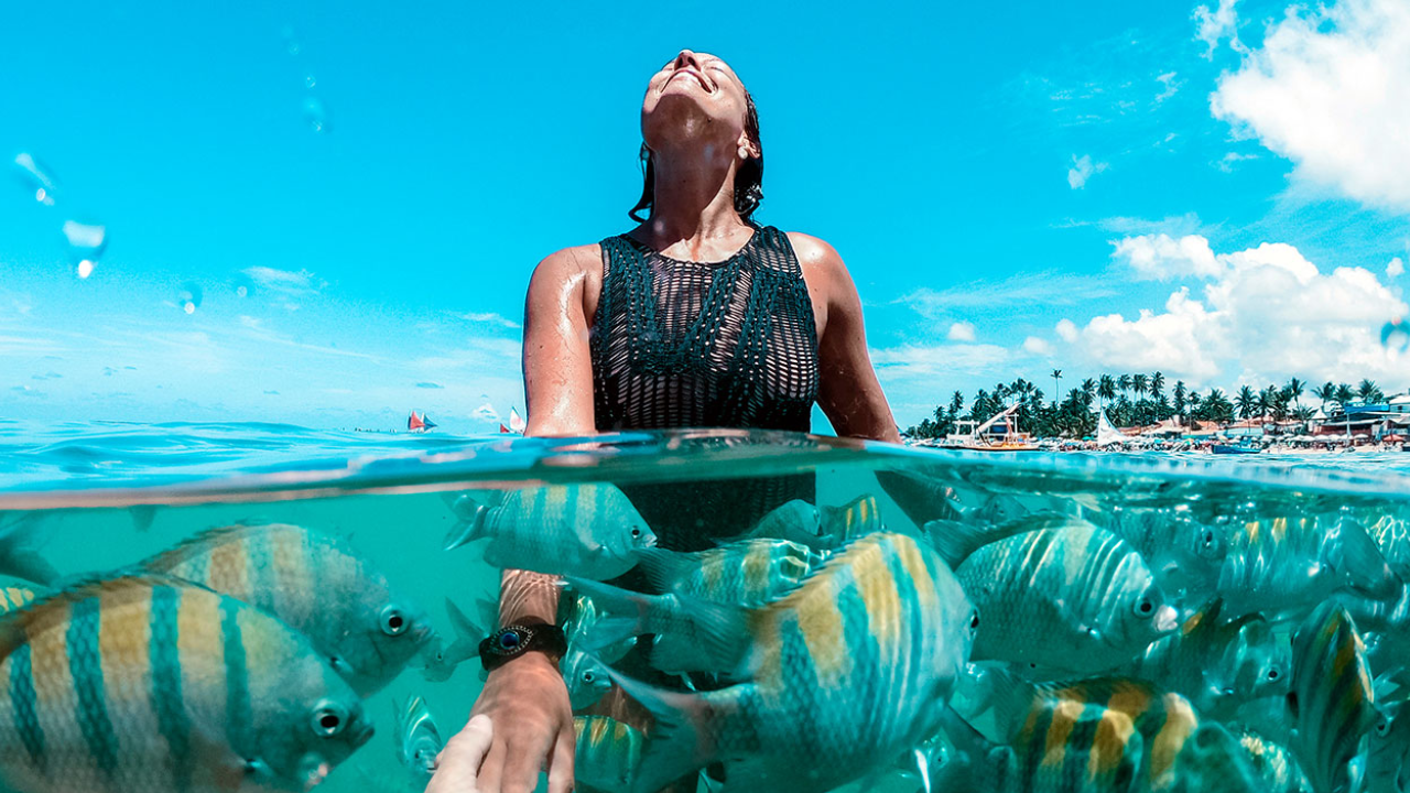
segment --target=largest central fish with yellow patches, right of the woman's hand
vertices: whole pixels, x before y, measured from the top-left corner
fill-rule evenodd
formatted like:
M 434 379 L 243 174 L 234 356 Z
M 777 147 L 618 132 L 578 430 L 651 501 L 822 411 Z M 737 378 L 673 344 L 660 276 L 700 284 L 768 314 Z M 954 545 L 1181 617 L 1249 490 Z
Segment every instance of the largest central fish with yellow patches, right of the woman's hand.
M 667 691 L 612 670 L 654 718 L 630 790 L 660 790 L 711 763 L 722 793 L 822 792 L 885 770 L 933 732 L 977 624 L 928 545 L 888 532 L 856 539 L 799 588 L 747 612 L 742 682 Z

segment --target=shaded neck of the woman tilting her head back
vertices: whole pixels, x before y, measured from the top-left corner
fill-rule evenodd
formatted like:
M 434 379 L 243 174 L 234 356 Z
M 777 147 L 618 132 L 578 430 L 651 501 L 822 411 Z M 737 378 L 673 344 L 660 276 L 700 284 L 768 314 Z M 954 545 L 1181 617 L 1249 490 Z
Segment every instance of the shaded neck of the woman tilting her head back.
M 719 161 L 722 159 L 722 162 Z M 651 217 L 643 231 L 664 248 L 685 243 L 692 254 L 711 243 L 728 241 L 749 226 L 735 212 L 735 164 L 732 158 L 671 157 L 653 152 L 656 195 Z

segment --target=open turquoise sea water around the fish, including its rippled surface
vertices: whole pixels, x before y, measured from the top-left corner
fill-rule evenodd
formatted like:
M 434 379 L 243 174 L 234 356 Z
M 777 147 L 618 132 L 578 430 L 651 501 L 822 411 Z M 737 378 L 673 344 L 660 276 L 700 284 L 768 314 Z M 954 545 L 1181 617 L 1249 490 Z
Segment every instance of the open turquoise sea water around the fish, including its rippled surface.
M 908 487 L 881 487 L 900 473 Z M 118 570 L 233 523 L 293 523 L 347 540 L 444 635 L 446 600 L 477 615 L 498 571 L 472 545 L 443 550 L 462 491 L 541 484 L 625 487 L 816 477 L 816 502 L 876 498 L 887 531 L 955 505 L 994 523 L 1036 512 L 1098 525 L 1112 514 L 1193 516 L 1201 525 L 1355 514 L 1410 515 L 1410 454 L 1220 459 L 1201 454 L 986 454 L 911 450 L 783 433 L 625 433 L 587 440 L 314 432 L 283 425 L 0 422 L 0 528 L 24 526 L 62 577 Z M 900 504 L 893 494 L 901 494 Z M 729 505 L 682 502 L 706 521 Z M 721 526 L 723 535 L 749 526 Z M 1186 608 L 1190 604 L 1184 604 Z M 1034 636 L 1034 642 L 1039 642 Z M 319 787 L 412 790 L 396 761 L 393 707 L 422 696 L 443 735 L 467 717 L 478 662 L 450 680 L 413 667 L 372 696 L 376 735 Z M 0 770 L 3 773 L 3 770 Z M 900 772 L 887 790 L 915 790 Z

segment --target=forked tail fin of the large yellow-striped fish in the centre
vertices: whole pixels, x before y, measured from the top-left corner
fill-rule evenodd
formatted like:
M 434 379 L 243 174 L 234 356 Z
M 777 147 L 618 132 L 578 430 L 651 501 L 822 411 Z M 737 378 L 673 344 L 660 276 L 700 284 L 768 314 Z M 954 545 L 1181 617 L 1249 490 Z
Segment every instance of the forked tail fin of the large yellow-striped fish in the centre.
M 642 751 L 633 793 L 661 790 L 671 780 L 702 769 L 715 759 L 711 721 L 719 718 L 721 707 L 729 708 L 735 697 L 718 691 L 709 694 L 706 703 L 705 694 L 657 689 L 612 667 L 608 667 L 608 674 L 654 718 L 651 735 Z

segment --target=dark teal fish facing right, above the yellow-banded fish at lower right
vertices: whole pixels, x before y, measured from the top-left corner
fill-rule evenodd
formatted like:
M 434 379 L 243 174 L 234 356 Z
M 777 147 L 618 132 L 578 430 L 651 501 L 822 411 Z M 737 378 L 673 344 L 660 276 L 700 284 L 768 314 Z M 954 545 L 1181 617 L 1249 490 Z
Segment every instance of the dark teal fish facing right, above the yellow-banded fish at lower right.
M 1217 718 L 1244 701 L 1286 694 L 1292 646 L 1259 615 L 1225 622 L 1222 605 L 1214 598 L 1120 672 L 1177 691 Z

